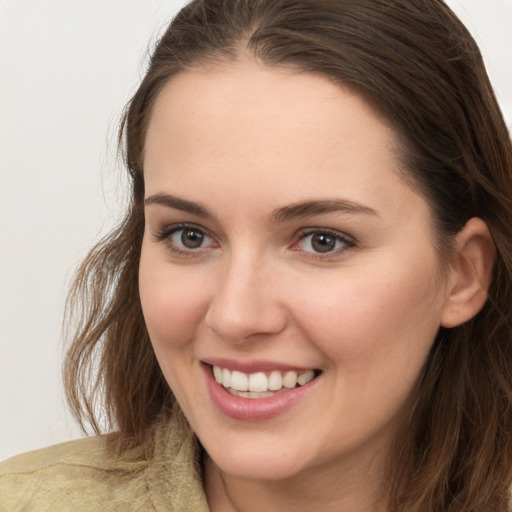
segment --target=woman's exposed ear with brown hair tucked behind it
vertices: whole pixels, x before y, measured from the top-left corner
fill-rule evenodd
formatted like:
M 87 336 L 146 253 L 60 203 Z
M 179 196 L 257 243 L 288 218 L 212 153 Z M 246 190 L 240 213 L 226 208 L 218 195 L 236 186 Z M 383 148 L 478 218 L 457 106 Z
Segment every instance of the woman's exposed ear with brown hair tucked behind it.
M 491 284 L 496 249 L 487 224 L 470 219 L 455 239 L 450 262 L 448 297 L 441 316 L 443 327 L 456 327 L 484 306 Z

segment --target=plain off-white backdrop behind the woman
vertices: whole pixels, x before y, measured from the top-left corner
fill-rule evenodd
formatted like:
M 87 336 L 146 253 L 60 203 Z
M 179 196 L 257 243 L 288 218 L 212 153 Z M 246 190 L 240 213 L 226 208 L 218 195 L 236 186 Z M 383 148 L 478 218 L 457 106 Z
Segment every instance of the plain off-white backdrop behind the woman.
M 122 109 L 183 0 L 0 0 L 0 460 L 81 435 L 64 404 L 74 269 L 123 204 Z M 450 0 L 512 126 L 512 0 Z

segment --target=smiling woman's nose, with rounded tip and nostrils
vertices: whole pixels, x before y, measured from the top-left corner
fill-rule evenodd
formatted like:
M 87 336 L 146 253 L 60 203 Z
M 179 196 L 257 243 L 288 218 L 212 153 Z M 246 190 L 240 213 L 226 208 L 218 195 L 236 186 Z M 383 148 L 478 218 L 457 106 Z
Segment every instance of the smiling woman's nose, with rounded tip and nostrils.
M 276 272 L 251 257 L 226 264 L 206 313 L 206 325 L 224 341 L 275 335 L 287 324 Z

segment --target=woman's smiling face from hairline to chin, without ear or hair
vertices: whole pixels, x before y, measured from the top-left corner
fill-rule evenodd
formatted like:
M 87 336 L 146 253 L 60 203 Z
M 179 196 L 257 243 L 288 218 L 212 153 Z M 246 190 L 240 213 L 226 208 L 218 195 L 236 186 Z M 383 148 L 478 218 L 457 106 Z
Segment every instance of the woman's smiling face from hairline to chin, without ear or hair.
M 282 479 L 384 459 L 447 297 L 395 146 L 358 95 L 312 74 L 242 62 L 160 94 L 140 295 L 221 471 Z

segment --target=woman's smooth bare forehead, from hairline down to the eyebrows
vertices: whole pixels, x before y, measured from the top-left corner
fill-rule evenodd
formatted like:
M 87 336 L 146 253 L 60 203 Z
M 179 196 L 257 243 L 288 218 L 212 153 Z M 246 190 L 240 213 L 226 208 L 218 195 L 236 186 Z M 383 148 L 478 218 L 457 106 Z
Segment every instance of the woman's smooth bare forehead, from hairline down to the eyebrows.
M 412 193 L 399 178 L 396 138 L 359 95 L 324 76 L 254 62 L 198 68 L 172 78 L 155 102 L 146 190 L 229 197 L 231 207 L 257 194 L 269 207 L 376 192 L 396 203 Z

